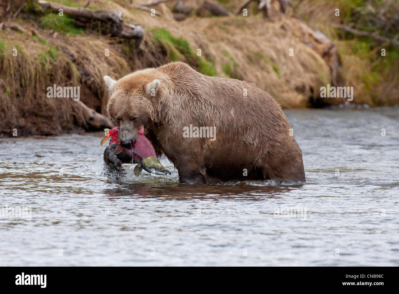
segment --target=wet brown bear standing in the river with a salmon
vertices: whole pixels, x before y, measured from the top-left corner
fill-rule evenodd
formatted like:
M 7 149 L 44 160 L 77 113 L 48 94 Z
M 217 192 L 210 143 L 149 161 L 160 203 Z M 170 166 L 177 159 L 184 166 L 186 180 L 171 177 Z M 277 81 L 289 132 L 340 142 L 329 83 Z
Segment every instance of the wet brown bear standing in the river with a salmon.
M 136 140 L 143 124 L 180 182 L 306 181 L 286 116 L 255 84 L 205 76 L 183 62 L 104 80 L 107 111 L 119 126 L 122 146 Z M 117 169 L 130 162 L 126 154 L 115 154 L 115 146 L 107 147 L 104 159 Z

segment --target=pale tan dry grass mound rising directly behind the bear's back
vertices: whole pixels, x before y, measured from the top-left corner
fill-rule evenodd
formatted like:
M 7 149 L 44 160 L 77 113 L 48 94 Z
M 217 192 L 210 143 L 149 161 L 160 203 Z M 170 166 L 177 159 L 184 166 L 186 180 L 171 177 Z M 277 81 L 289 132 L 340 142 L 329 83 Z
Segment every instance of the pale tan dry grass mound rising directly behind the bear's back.
M 178 22 L 165 4 L 156 6 L 162 16 L 151 17 L 149 12 L 129 8 L 128 4 L 121 8 L 115 2 L 101 2 L 108 9 L 122 10 L 130 22 L 140 24 L 147 32 L 152 28 L 166 28 L 172 35 L 187 39 L 194 52 L 201 49 L 202 56 L 213 63 L 217 76 L 254 82 L 282 107 L 308 106 L 308 98 L 330 80 L 326 62 L 281 28 L 284 17 L 270 22 L 261 14 L 191 16 Z M 290 48 L 294 48 L 294 56 L 288 55 Z

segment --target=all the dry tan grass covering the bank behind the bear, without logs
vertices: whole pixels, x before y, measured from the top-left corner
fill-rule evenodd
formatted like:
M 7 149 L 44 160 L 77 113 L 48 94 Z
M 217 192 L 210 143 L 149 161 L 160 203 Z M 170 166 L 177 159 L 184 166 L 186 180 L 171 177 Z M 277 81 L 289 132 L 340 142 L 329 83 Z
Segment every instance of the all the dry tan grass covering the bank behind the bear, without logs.
M 384 97 L 387 104 L 397 101 L 399 64 L 396 62 L 385 70 L 383 78 L 376 77 L 370 58 L 363 58 L 352 48 L 356 40 L 341 41 L 332 28 L 332 23 L 340 21 L 334 16 L 336 2 L 304 0 L 300 6 L 293 2 L 294 9 L 288 8 L 286 15 L 271 12 L 268 20 L 261 13 L 254 14 L 253 3 L 247 17 L 199 18 L 193 14 L 178 22 L 170 10 L 175 2 L 155 6 L 162 16 L 150 16 L 150 12 L 134 9 L 127 0 L 92 1 L 91 8 L 121 10 L 128 22 L 144 28 L 144 39 L 138 49 L 133 48 L 132 42 L 99 36 L 94 31 L 81 35 L 60 32 L 53 37 L 49 30 L 36 28 L 41 38 L 2 31 L 0 65 L 6 70 L 0 73 L 0 133 L 10 135 L 17 128 L 19 135 L 59 134 L 76 126 L 85 128 L 83 119 L 73 112 L 73 100 L 47 98 L 48 86 L 80 86 L 81 100 L 105 114 L 104 75 L 119 78 L 132 70 L 176 59 L 205 74 L 254 82 L 283 107 L 306 107 L 309 98 L 319 94 L 320 86 L 331 81 L 331 74 L 314 50 L 282 28 L 293 11 L 336 44 L 342 62 L 340 83 L 354 86 L 356 103 L 379 104 L 373 95 Z M 73 5 L 86 3 L 87 0 L 77 0 Z M 186 3 L 198 7 L 201 0 Z M 232 0 L 226 6 L 234 11 L 240 3 L 241 0 Z M 29 30 L 33 21 L 18 24 Z M 12 56 L 13 48 L 18 49 L 18 58 Z M 107 48 L 109 56 L 105 56 Z M 294 56 L 289 56 L 290 48 L 294 49 Z M 197 49 L 201 49 L 201 57 L 196 56 Z M 367 54 L 377 56 L 378 50 Z

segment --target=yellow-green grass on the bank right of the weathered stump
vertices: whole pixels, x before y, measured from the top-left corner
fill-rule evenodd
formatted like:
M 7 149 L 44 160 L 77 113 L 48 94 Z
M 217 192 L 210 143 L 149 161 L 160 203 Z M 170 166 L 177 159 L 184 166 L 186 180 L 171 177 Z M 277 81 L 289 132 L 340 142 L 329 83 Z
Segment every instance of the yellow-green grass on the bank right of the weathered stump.
M 399 49 L 389 47 L 388 44 L 375 44 L 372 39 L 366 38 L 353 37 L 350 40 L 342 40 L 343 33 L 333 26 L 350 24 L 346 15 L 354 9 L 354 2 L 349 0 L 293 2 L 296 14 L 304 18 L 310 26 L 326 34 L 336 45 L 341 61 L 338 71 L 340 84 L 354 87 L 354 103 L 371 106 L 399 103 L 399 58 L 397 57 Z M 396 10 L 398 7 L 396 4 Z M 334 15 L 336 8 L 340 9 L 340 16 Z M 394 7 L 390 6 L 390 9 L 395 11 Z M 370 25 L 372 28 L 373 24 Z M 387 50 L 386 56 L 381 56 L 382 48 Z

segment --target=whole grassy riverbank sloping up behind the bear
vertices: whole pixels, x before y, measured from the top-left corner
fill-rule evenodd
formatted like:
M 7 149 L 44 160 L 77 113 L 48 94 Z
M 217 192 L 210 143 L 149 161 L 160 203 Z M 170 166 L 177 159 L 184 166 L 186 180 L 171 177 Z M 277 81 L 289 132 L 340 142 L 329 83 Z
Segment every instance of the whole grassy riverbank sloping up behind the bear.
M 87 4 L 86 0 L 55 2 L 70 7 Z M 334 28 L 354 21 L 365 1 L 292 1 L 284 13 L 272 1 L 267 18 L 255 2 L 246 6 L 248 16 L 235 14 L 238 1 L 219 3 L 228 16 L 197 13 L 201 3 L 186 1 L 184 6 L 192 7 L 192 12 L 178 21 L 176 1 L 141 8 L 140 3 L 123 0 L 89 2 L 88 9 L 117 10 L 125 22 L 141 26 L 144 35 L 137 48 L 136 40 L 112 36 L 110 28 L 99 21 L 82 26 L 67 14 L 59 16 L 43 8 L 38 1 L 13 1 L 9 9 L 2 4 L 0 135 L 101 129 L 112 122 L 100 119 L 94 123 L 82 102 L 106 116 L 104 75 L 119 78 L 175 60 L 203 74 L 254 82 L 283 108 L 348 103 L 345 98 L 320 97 L 319 89 L 328 84 L 353 87 L 352 104 L 399 103 L 397 48 Z M 335 7 L 341 16 L 334 15 Z M 390 6 L 385 14 L 397 8 Z M 151 9 L 155 9 L 154 16 Z M 320 30 L 322 37 L 317 38 L 312 28 Z M 391 37 L 389 30 L 381 34 Z M 381 49 L 385 56 L 379 54 Z M 79 87 L 80 103 L 49 98 L 47 88 L 54 84 Z

